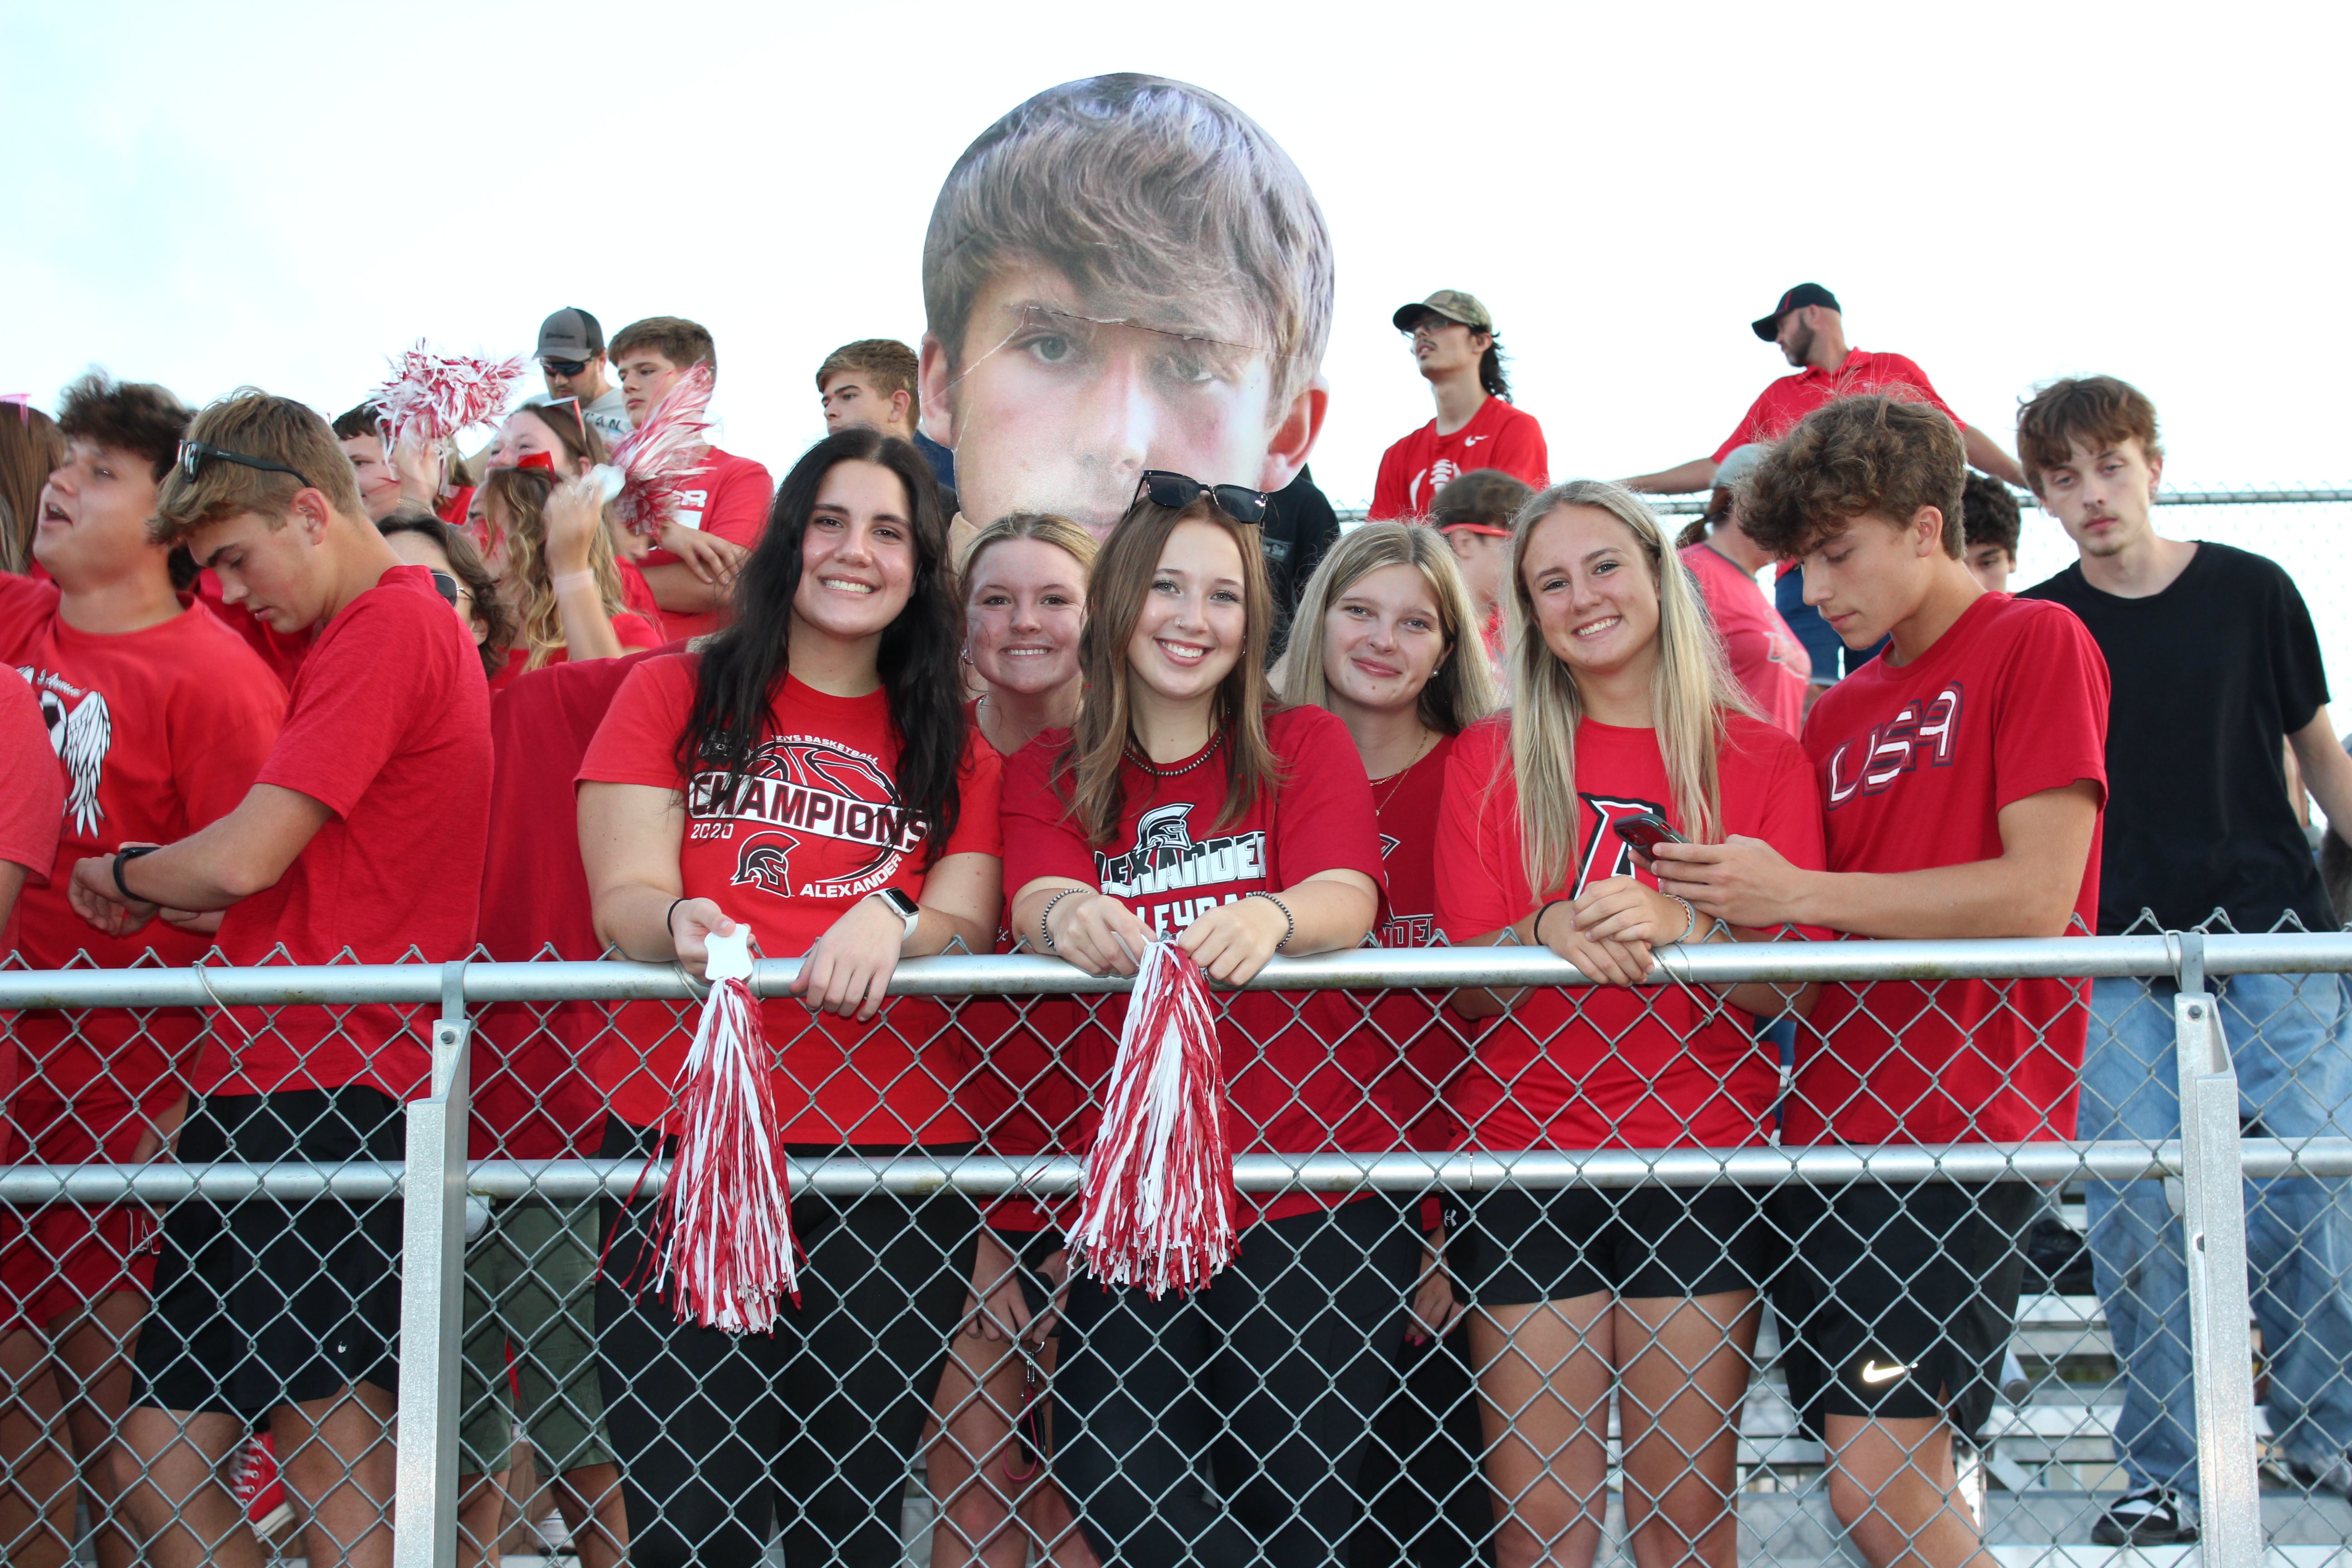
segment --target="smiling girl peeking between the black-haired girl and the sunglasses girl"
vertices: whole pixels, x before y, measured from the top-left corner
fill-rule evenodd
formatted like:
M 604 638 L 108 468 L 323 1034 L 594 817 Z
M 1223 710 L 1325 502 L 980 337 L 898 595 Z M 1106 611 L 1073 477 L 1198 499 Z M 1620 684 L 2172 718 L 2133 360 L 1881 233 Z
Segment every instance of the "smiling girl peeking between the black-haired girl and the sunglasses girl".
M 985 684 L 971 722 L 997 757 L 1077 717 L 1077 637 L 1096 552 L 1094 534 L 1042 512 L 997 517 L 964 550 L 964 658 Z M 1011 947 L 1011 933 L 997 931 L 997 952 Z M 1073 1018 L 1065 997 L 969 997 L 955 1009 L 955 1027 L 978 1056 L 957 1103 L 990 1154 L 1061 1147 L 1080 1095 L 1054 1041 L 1068 1039 Z M 1035 1542 L 1061 1568 L 1094 1568 L 1068 1500 L 1044 1474 L 1051 1408 L 1042 1378 L 1054 1371 L 1051 1298 L 1068 1269 L 1061 1225 L 1030 1199 L 997 1199 L 985 1220 L 964 1324 L 931 1401 L 941 1427 L 927 1458 L 938 1500 L 931 1561 L 1023 1568 Z M 1016 1425 L 1028 1453 L 1014 1443 Z M 1009 1528 L 1016 1514 L 1021 1530 Z

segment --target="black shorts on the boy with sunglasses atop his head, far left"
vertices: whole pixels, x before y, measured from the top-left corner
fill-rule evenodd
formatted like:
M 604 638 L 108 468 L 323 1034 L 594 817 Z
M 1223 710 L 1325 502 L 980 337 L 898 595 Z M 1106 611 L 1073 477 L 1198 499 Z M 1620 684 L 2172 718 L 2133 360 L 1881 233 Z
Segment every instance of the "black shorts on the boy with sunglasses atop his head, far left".
M 181 1164 L 400 1159 L 381 1088 L 198 1095 Z M 400 1199 L 186 1199 L 162 1222 L 132 1403 L 259 1418 L 350 1382 L 400 1385 Z

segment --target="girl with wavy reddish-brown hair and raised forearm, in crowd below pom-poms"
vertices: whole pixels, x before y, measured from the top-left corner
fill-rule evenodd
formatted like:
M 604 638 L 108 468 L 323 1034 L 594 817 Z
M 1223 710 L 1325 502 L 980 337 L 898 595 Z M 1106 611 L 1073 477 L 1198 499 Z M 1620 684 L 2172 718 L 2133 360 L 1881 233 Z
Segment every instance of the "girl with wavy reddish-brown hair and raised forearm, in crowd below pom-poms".
M 621 567 L 586 480 L 557 482 L 543 456 L 529 468 L 492 468 L 473 491 L 468 524 L 487 543 L 515 642 L 489 689 L 569 658 L 616 658 L 659 649 L 661 630 L 623 609 Z

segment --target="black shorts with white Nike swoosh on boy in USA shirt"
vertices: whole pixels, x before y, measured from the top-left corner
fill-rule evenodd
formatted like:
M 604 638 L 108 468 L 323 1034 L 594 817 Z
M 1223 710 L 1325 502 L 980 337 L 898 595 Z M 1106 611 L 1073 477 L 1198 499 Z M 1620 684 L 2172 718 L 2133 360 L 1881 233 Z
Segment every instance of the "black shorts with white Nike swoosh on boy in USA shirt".
M 1943 1415 L 1973 1436 L 2016 1333 L 2032 1182 L 1780 1187 L 1764 1211 L 1790 1260 L 1773 1281 L 1788 1396 L 1823 1415 Z

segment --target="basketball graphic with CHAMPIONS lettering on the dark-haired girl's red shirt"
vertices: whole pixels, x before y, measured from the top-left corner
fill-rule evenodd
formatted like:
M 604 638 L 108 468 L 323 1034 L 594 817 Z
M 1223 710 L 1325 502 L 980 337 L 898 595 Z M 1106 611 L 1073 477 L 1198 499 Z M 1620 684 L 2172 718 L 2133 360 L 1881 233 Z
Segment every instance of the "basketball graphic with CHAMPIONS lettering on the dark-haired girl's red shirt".
M 880 757 L 823 736 L 776 736 L 741 776 L 694 776 L 696 837 L 748 835 L 731 882 L 783 898 L 851 898 L 884 886 L 922 842 Z

